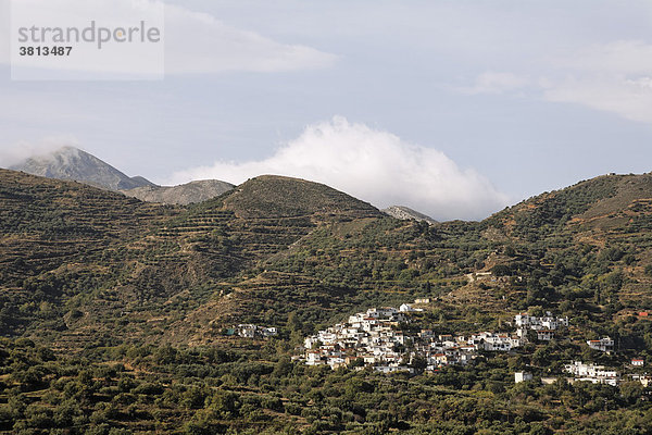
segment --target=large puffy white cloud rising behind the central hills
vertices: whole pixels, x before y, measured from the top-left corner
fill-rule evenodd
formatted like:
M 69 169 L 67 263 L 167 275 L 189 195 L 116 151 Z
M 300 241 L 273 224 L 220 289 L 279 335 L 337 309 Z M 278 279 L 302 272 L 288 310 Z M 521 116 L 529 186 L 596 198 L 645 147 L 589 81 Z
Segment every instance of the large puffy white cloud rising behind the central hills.
M 173 183 L 217 178 L 239 184 L 262 174 L 324 183 L 380 208 L 408 206 L 438 220 L 481 219 L 507 202 L 484 176 L 460 169 L 442 152 L 341 116 L 308 126 L 267 159 L 218 161 L 176 173 Z

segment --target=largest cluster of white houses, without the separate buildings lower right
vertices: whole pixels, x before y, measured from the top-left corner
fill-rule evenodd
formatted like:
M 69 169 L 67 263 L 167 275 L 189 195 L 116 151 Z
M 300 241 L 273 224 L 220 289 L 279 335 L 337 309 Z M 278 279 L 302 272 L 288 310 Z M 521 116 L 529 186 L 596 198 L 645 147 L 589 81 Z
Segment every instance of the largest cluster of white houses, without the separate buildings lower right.
M 527 330 L 537 331 L 542 340 L 552 338 L 551 333 L 567 326 L 567 318 L 535 318 L 518 314 L 515 318 L 516 334 L 482 332 L 471 336 L 435 334 L 422 330 L 406 334 L 397 328 L 410 322 L 410 313 L 421 311 L 410 304 L 396 308 L 372 308 L 349 316 L 348 322 L 336 324 L 305 338 L 304 356 L 309 365 L 329 365 L 333 369 L 362 361 L 381 372 L 412 371 L 415 358 L 425 361 L 426 370 L 442 365 L 465 365 L 478 351 L 509 352 L 527 343 Z

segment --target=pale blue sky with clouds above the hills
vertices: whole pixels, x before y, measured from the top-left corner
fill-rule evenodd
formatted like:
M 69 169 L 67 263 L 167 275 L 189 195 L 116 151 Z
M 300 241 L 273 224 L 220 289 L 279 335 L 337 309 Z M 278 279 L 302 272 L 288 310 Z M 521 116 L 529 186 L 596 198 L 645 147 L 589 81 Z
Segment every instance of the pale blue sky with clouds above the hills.
M 74 145 L 160 184 L 290 175 L 438 220 L 652 170 L 652 2 L 165 7 L 161 80 L 12 80 L 0 32 L 0 166 Z

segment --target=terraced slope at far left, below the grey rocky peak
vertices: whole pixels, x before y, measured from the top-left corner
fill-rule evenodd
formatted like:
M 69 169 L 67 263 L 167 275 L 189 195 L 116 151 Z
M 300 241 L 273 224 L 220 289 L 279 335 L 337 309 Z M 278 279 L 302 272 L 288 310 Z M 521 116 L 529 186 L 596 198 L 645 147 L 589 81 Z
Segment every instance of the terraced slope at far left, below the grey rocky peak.
M 61 328 L 64 299 L 105 286 L 123 246 L 178 213 L 120 194 L 0 170 L 0 324 Z M 100 284 L 101 283 L 101 284 Z

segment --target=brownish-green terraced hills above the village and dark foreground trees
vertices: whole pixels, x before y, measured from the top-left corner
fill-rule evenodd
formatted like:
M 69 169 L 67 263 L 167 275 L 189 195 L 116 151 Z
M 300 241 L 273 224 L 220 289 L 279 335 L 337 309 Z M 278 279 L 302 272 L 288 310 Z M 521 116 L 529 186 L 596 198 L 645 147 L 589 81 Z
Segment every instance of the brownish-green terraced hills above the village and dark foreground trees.
M 584 304 L 600 321 L 652 309 L 650 175 L 436 225 L 287 177 L 164 207 L 0 175 L 2 332 L 62 349 L 211 343 L 233 323 L 285 326 L 292 314 L 316 326 L 417 296 L 480 310 Z

